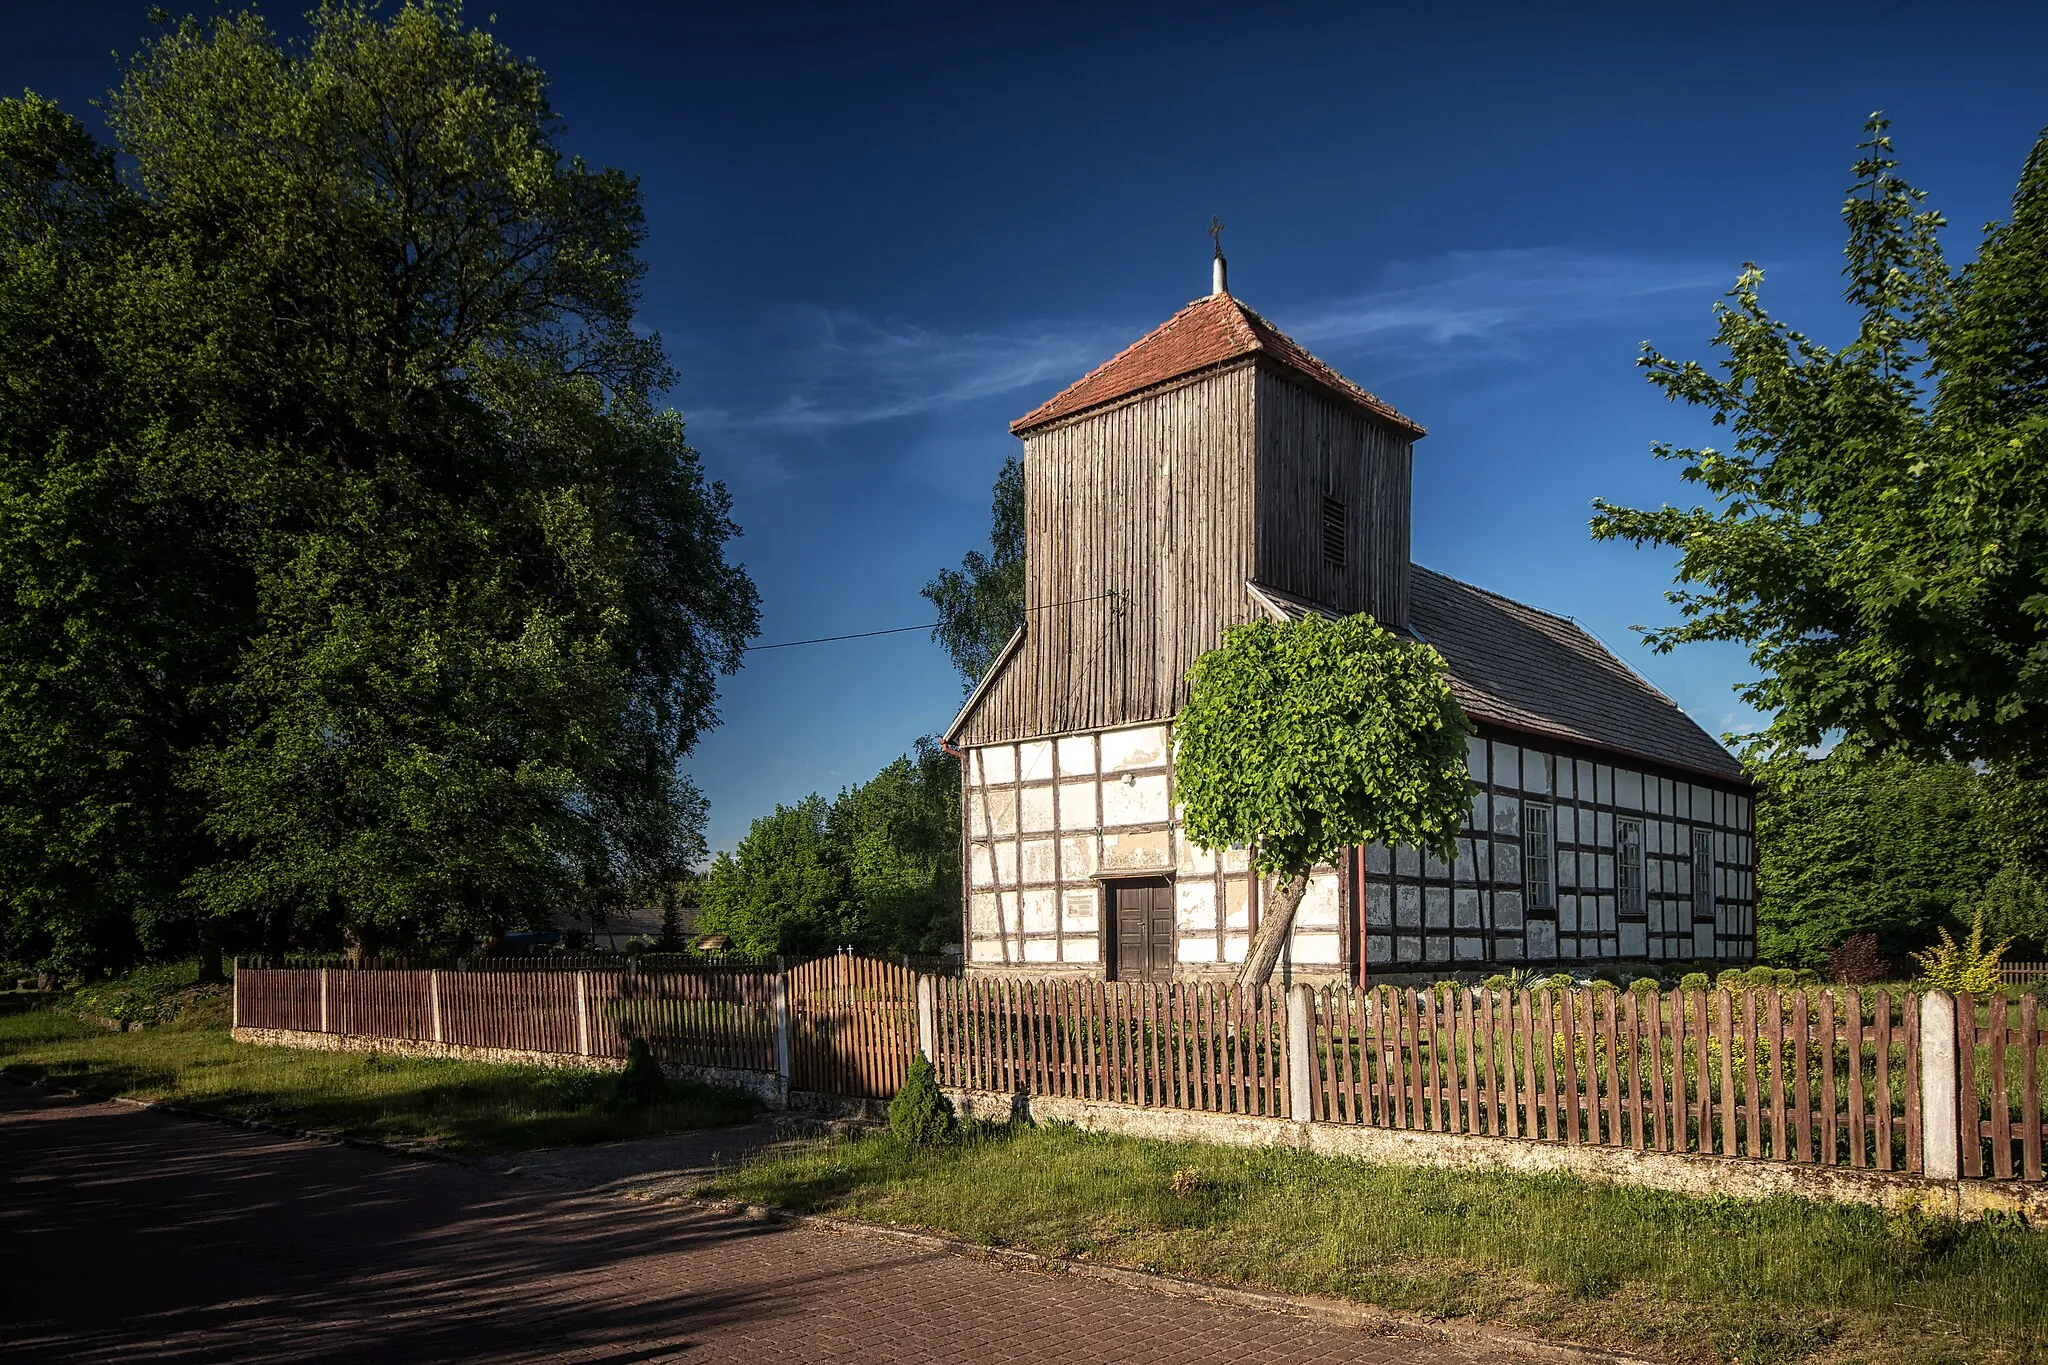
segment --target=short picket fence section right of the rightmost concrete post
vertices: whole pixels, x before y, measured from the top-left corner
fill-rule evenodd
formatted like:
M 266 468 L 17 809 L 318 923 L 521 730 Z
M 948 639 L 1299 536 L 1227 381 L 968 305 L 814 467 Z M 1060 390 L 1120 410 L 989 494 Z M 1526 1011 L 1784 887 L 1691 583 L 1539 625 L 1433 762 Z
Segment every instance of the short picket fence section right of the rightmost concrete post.
M 1956 995 L 1958 1158 L 1966 1177 L 2042 1179 L 2040 999 Z

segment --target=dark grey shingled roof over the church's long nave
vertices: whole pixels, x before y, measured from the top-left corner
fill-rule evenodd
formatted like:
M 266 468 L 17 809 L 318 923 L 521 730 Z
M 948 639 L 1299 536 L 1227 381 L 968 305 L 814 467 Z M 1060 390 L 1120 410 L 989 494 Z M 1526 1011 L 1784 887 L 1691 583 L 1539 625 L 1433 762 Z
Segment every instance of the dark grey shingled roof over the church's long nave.
M 1247 587 L 1280 616 L 1329 614 L 1262 583 Z M 1409 630 L 1444 655 L 1450 692 L 1473 720 L 1743 780 L 1735 755 L 1677 702 L 1563 616 L 1413 565 Z

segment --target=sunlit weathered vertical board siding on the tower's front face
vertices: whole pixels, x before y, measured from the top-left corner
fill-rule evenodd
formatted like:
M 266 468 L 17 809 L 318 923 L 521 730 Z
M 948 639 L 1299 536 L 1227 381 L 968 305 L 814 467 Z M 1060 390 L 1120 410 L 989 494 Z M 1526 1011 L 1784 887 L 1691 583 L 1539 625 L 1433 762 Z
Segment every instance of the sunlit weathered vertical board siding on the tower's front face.
M 956 745 L 1180 710 L 1251 620 L 1253 387 L 1245 362 L 1026 438 L 1024 643 Z

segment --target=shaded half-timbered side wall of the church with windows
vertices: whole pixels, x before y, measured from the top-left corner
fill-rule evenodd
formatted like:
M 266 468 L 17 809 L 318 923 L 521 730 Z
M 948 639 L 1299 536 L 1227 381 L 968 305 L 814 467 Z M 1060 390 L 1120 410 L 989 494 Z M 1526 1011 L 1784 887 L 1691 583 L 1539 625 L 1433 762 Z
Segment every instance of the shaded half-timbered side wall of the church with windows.
M 1755 956 L 1749 792 L 1501 731 L 1470 741 L 1468 767 L 1479 790 L 1456 864 L 1411 847 L 1366 849 L 1368 970 Z M 1548 839 L 1532 833 L 1532 804 L 1548 808 Z M 1642 833 L 1640 907 L 1620 886 L 1618 825 L 1628 821 Z M 1696 831 L 1712 851 L 1698 882 Z M 1550 905 L 1530 896 L 1532 837 L 1550 855 Z

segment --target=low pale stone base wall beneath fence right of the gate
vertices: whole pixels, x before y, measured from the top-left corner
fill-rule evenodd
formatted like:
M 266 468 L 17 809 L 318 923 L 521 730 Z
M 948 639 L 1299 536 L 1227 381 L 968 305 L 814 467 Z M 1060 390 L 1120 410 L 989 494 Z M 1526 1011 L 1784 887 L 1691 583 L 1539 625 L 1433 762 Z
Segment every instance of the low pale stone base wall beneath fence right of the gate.
M 1919 1205 L 1929 1214 L 1952 1214 L 1958 1218 L 1982 1218 L 1987 1212 L 2017 1212 L 2028 1222 L 2048 1222 L 2048 1187 L 2023 1181 L 1927 1181 L 1917 1175 L 1888 1171 L 1794 1166 L 1767 1160 L 1679 1156 L 1675 1152 L 1634 1152 L 1606 1146 L 1561 1146 L 1354 1124 L 1296 1124 L 1292 1119 L 1268 1119 L 1247 1113 L 1139 1109 L 1042 1095 L 995 1095 L 989 1091 L 946 1091 L 946 1095 L 963 1117 L 997 1124 L 1012 1119 L 1059 1121 L 1096 1132 L 1124 1134 L 1128 1138 L 1151 1138 L 1155 1142 L 1284 1146 L 1325 1156 L 1350 1156 L 1352 1160 L 1380 1166 L 1571 1175 L 1667 1189 L 1694 1197 L 1772 1199 L 1794 1195 L 1823 1203 Z

